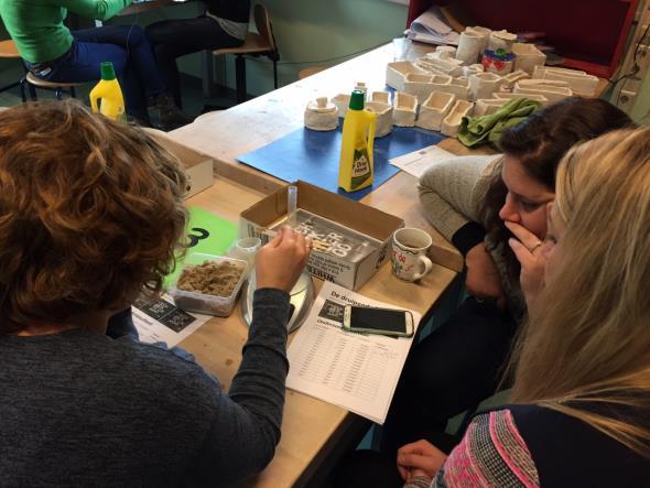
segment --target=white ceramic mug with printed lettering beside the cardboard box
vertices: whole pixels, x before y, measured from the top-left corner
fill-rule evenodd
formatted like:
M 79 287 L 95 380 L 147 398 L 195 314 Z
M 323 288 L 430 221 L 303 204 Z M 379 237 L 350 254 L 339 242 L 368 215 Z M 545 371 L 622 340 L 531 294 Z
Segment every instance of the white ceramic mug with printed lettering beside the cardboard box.
M 431 247 L 431 236 L 413 227 L 398 229 L 392 236 L 390 262 L 392 272 L 400 280 L 418 281 L 433 268 L 426 250 Z

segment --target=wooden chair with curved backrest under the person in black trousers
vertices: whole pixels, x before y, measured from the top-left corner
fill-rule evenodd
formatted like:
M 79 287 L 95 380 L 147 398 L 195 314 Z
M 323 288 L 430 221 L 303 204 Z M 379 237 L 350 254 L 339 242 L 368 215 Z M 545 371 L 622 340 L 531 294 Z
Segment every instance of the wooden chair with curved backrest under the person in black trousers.
M 273 62 L 273 87 L 278 88 L 278 61 L 280 59 L 280 53 L 275 45 L 269 12 L 267 12 L 263 6 L 258 3 L 253 9 L 253 18 L 259 34 L 249 32 L 246 35 L 246 41 L 239 47 L 226 47 L 213 51 L 214 56 L 220 56 L 221 54 L 235 54 L 237 56 L 235 58 L 235 76 L 237 80 L 238 104 L 246 101 L 246 55 L 256 57 L 267 56 Z

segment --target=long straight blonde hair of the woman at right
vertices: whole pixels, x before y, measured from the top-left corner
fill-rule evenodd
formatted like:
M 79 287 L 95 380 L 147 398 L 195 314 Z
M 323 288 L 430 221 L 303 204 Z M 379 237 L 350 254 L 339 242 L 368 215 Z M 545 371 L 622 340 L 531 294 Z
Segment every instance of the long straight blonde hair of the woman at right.
M 555 206 L 566 230 L 513 351 L 512 401 L 650 456 L 650 128 L 571 150 Z

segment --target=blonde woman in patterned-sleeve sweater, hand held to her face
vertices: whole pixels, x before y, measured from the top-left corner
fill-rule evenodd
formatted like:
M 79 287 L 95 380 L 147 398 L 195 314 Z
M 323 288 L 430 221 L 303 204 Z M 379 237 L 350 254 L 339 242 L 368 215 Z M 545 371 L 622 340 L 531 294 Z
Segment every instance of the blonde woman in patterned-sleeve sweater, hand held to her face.
M 402 447 L 410 486 L 650 484 L 650 128 L 573 149 L 555 191 L 542 246 L 508 223 L 530 314 L 511 404 L 477 415 L 448 457 Z

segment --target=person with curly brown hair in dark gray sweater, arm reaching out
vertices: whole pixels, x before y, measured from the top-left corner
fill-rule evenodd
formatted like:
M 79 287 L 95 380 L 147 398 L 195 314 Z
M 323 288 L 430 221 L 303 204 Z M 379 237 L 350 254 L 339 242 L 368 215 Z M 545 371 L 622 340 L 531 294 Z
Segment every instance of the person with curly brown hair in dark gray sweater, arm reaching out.
M 226 392 L 187 353 L 106 334 L 183 246 L 175 156 L 75 101 L 19 106 L 0 112 L 0 486 L 230 486 L 261 470 L 305 238 L 284 228 L 260 250 Z

